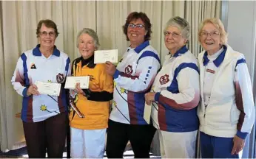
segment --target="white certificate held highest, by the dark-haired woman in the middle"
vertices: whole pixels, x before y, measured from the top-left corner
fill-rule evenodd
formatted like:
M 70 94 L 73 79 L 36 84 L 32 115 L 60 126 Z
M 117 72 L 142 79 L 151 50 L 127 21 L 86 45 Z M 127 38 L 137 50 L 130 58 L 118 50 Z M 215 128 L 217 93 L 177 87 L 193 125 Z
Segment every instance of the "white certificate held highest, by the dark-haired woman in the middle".
M 94 63 L 106 63 L 106 61 L 118 63 L 118 50 L 96 50 L 94 52 Z

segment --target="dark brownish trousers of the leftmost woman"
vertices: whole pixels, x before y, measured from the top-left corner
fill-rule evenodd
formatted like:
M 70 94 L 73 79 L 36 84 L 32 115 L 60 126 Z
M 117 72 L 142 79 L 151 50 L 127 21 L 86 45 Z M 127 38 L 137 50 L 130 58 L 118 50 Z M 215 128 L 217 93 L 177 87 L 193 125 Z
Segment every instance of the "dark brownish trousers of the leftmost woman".
M 67 113 L 61 113 L 44 121 L 23 121 L 29 158 L 62 158 L 67 134 Z

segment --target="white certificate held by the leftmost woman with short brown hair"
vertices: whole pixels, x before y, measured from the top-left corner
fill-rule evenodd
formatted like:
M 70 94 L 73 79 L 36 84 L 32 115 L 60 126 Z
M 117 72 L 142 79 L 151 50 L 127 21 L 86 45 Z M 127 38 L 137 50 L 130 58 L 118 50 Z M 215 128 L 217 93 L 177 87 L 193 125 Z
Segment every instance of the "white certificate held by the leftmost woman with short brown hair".
M 60 83 L 36 81 L 36 86 L 39 93 L 48 94 L 50 96 L 59 96 L 61 91 Z

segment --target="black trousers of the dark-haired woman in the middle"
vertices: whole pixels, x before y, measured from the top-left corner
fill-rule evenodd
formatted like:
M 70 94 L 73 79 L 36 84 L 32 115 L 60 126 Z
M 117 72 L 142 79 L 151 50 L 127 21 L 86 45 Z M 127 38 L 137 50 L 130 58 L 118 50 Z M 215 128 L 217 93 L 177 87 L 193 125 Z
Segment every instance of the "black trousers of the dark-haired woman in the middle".
M 149 158 L 150 145 L 155 135 L 152 124 L 123 124 L 109 120 L 107 129 L 107 158 L 123 158 L 129 141 L 135 158 Z

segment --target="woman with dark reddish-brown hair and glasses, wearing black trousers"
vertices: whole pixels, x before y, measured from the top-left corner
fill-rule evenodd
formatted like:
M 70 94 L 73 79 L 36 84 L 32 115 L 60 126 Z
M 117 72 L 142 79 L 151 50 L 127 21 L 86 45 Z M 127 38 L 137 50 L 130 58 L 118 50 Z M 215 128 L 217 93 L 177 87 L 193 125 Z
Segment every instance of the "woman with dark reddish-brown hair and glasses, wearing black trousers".
M 149 158 L 155 128 L 143 117 L 144 94 L 160 68 L 158 52 L 149 45 L 151 26 L 145 13 L 130 13 L 123 26 L 130 46 L 116 68 L 107 62 L 107 73 L 115 82 L 107 130 L 107 158 L 123 158 L 128 141 L 135 158 Z

